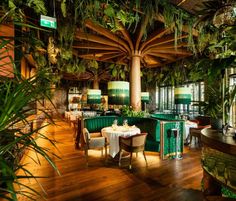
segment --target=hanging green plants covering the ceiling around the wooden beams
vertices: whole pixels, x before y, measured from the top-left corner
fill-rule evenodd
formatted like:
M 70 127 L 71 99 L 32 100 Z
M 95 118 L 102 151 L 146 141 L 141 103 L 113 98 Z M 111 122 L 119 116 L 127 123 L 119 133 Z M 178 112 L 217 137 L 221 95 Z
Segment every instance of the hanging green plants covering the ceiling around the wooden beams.
M 34 52 L 34 58 L 38 62 L 39 66 L 50 67 L 53 71 L 61 74 L 72 73 L 81 75 L 81 73 L 86 71 L 86 65 L 88 64 L 86 60 L 91 60 L 92 56 L 88 56 L 90 55 L 88 54 L 90 53 L 88 50 L 89 48 L 82 50 L 82 53 L 78 53 L 78 49 L 75 48 L 75 46 L 80 46 L 82 44 L 80 41 L 84 42 L 84 40 L 81 38 L 78 40 L 74 37 L 76 34 L 80 35 L 84 32 L 85 37 L 86 34 L 99 35 L 99 33 L 96 33 L 96 31 L 91 28 L 93 26 L 97 26 L 98 28 L 102 27 L 111 31 L 116 34 L 117 37 L 121 37 L 122 39 L 125 34 L 127 34 L 124 32 L 125 29 L 130 35 L 131 43 L 134 43 L 134 41 L 139 41 L 140 44 L 142 44 L 145 43 L 145 41 L 148 41 L 153 34 L 156 34 L 155 31 L 161 27 L 165 30 L 168 29 L 167 32 L 161 32 L 162 35 L 172 33 L 172 52 L 168 52 L 166 54 L 156 52 L 156 50 L 153 53 L 149 52 L 150 55 L 144 57 L 144 62 L 142 63 L 143 79 L 150 80 L 150 77 L 156 75 L 157 81 L 163 81 L 165 78 L 164 83 L 167 82 L 173 84 L 173 81 L 171 82 L 170 80 L 173 80 L 174 78 L 166 78 L 170 75 L 170 73 L 167 73 L 169 68 L 173 68 L 171 76 L 176 75 L 176 80 L 179 80 L 178 83 L 181 83 L 182 81 L 180 80 L 184 80 L 184 77 L 188 77 L 188 79 L 191 78 L 191 76 L 186 75 L 184 75 L 181 79 L 178 78 L 178 71 L 180 70 L 178 65 L 186 60 L 185 57 L 188 57 L 189 62 L 192 63 L 192 70 L 189 68 L 186 70 L 184 67 L 181 68 L 188 72 L 191 71 L 190 75 L 196 75 L 197 73 L 193 72 L 193 69 L 197 68 L 194 67 L 195 59 L 193 59 L 193 57 L 197 56 L 198 59 L 208 58 L 212 60 L 217 58 L 227 58 L 235 55 L 235 27 L 216 27 L 213 23 L 213 17 L 222 7 L 222 2 L 223 1 L 209 0 L 206 3 L 203 3 L 202 7 L 198 8 L 198 12 L 195 12 L 193 15 L 180 9 L 178 6 L 171 4 L 171 1 L 55 1 L 55 15 L 58 18 L 58 29 L 56 31 L 48 31 L 45 29 L 40 31 L 43 32 L 43 35 L 47 36 L 41 37 L 40 39 L 37 38 L 38 31 L 41 29 L 40 27 L 37 27 L 37 29 L 34 28 L 33 30 L 29 29 L 30 34 L 28 34 L 28 37 L 30 36 L 32 39 L 31 51 Z M 37 13 L 53 15 L 53 9 L 48 12 L 46 11 L 45 7 L 48 6 L 48 2 L 44 0 L 37 0 L 37 2 L 28 0 L 25 3 L 23 3 L 23 1 L 10 0 L 9 5 L 7 6 L 9 6 L 9 12 L 15 11 L 14 15 L 16 18 L 14 19 L 17 19 L 15 20 L 16 23 L 25 23 L 27 26 L 35 25 L 32 21 L 25 17 L 24 13 L 28 10 L 28 7 L 33 7 L 36 15 Z M 144 26 L 140 28 L 141 25 Z M 57 56 L 58 63 L 56 65 L 48 62 L 47 54 L 45 51 L 42 51 L 43 49 L 47 49 L 48 41 L 45 38 L 48 38 L 48 36 L 55 37 L 55 45 L 60 49 L 60 54 Z M 35 43 L 35 41 L 37 41 L 36 39 L 38 40 L 37 43 Z M 91 46 L 94 46 L 94 43 L 91 44 Z M 152 45 L 151 41 L 148 41 L 147 45 Z M 131 46 L 130 43 L 129 46 Z M 171 55 L 174 50 L 177 50 L 183 46 L 185 46 L 184 48 L 186 48 L 186 51 L 189 51 L 191 54 L 188 55 L 186 53 L 184 56 L 178 54 L 177 56 Z M 103 47 L 105 48 L 106 46 L 103 45 Z M 134 45 L 134 49 L 135 48 L 136 47 Z M 91 55 L 95 55 L 95 53 L 91 51 Z M 101 61 L 101 64 L 99 64 L 99 68 L 101 69 L 105 66 L 102 62 L 106 61 L 116 63 L 114 66 L 123 65 L 123 68 L 126 68 L 126 66 L 129 67 L 130 65 L 130 55 L 121 54 L 120 57 L 117 57 L 117 59 L 112 58 L 110 60 L 106 60 L 106 58 L 116 56 L 117 52 L 114 52 L 113 55 L 104 55 L 103 57 L 94 57 L 92 59 L 93 61 L 97 60 L 98 63 Z M 157 57 L 157 55 L 159 57 Z M 193 56 L 191 57 L 190 55 Z M 104 58 L 104 60 L 101 58 Z M 161 60 L 159 60 L 160 58 Z M 179 58 L 180 61 L 178 61 L 177 58 Z M 148 62 L 150 64 L 153 63 L 153 65 L 147 64 Z M 144 67 L 147 66 L 152 66 L 152 68 L 145 69 Z M 174 66 L 176 66 L 176 69 Z M 156 69 L 156 67 L 158 68 Z M 161 69 L 159 69 L 160 67 Z M 149 71 L 150 73 L 147 73 Z M 108 73 L 109 72 L 112 71 L 108 70 Z M 163 72 L 166 72 L 164 73 L 165 75 L 163 75 Z M 144 78 L 147 75 L 150 76 L 148 78 Z M 160 77 L 163 77 L 163 79 L 160 79 Z M 194 80 L 196 80 L 195 78 Z

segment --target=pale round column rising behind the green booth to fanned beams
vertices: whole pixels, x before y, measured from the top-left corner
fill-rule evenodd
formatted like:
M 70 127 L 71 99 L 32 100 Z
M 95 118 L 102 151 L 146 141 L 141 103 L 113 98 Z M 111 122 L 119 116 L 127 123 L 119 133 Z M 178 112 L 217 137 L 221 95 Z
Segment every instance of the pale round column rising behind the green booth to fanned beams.
M 140 55 L 138 52 L 132 56 L 130 70 L 130 105 L 135 111 L 141 110 L 141 77 Z

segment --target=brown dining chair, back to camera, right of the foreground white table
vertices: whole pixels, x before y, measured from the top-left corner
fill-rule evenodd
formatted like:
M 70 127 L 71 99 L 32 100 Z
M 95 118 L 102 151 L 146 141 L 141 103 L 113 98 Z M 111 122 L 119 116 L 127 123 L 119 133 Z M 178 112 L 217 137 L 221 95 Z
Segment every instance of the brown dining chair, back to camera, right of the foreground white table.
M 147 133 L 140 133 L 129 137 L 119 137 L 119 166 L 121 166 L 123 151 L 130 152 L 129 169 L 132 169 L 132 154 L 136 153 L 137 156 L 138 152 L 143 152 L 143 156 L 147 166 L 147 159 L 144 152 L 146 137 Z

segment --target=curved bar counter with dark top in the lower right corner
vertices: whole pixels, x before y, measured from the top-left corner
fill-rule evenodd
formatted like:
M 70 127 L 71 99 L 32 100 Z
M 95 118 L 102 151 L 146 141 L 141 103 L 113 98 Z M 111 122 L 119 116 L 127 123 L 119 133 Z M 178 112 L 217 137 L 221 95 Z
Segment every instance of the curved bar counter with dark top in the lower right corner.
M 201 141 L 203 193 L 236 198 L 236 140 L 232 135 L 205 128 Z

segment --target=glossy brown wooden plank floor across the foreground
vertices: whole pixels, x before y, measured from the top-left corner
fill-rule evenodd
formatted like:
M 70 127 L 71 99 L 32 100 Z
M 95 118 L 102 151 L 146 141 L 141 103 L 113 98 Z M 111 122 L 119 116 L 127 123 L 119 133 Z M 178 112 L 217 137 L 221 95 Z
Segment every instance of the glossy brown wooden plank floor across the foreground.
M 57 149 L 44 140 L 38 142 L 61 157 L 54 158 L 60 175 L 49 164 L 29 164 L 33 174 L 46 176 L 38 179 L 45 192 L 35 181 L 25 181 L 41 192 L 49 201 L 201 201 L 204 200 L 201 189 L 202 169 L 200 149 L 186 149 L 182 160 L 161 161 L 158 153 L 146 152 L 148 167 L 142 154 L 133 159 L 133 169 L 128 170 L 128 161 L 122 161 L 119 168 L 117 161 L 109 158 L 105 164 L 100 151 L 89 152 L 89 166 L 81 150 L 74 148 L 73 129 L 67 122 L 57 121 L 56 126 L 49 126 L 45 133 L 53 137 Z M 24 163 L 28 162 L 25 158 Z M 19 198 L 21 201 L 27 198 Z M 42 197 L 36 200 L 43 200 Z

